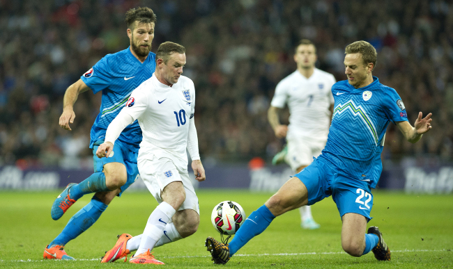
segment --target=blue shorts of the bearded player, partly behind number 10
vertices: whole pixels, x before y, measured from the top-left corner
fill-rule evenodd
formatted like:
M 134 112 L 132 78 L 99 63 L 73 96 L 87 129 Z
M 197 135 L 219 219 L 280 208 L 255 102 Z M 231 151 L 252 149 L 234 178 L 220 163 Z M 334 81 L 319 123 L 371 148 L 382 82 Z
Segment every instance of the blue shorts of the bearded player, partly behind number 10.
M 128 172 L 128 181 L 121 186 L 121 193 L 118 194 L 118 196 L 121 196 L 123 191 L 129 188 L 129 186 L 139 177 L 139 168 L 137 167 L 137 157 L 139 154 L 138 151 L 131 152 L 121 141 L 116 140 L 114 149 L 109 158 L 99 158 L 96 156 L 96 151 L 103 142 L 104 141 L 96 141 L 93 145 L 94 172 L 102 172 L 106 163 L 123 163 Z

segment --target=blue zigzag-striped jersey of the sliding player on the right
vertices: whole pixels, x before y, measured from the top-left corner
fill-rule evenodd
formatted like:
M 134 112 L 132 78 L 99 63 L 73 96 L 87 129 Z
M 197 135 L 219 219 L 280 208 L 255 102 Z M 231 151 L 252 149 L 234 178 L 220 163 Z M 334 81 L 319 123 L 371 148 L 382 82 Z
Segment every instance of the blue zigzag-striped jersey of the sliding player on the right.
M 332 86 L 335 108 L 329 136 L 320 161 L 333 165 L 339 174 L 369 181 L 375 188 L 381 176 L 381 152 L 390 122 L 407 121 L 406 108 L 396 90 L 376 76 L 363 88 L 348 81 Z

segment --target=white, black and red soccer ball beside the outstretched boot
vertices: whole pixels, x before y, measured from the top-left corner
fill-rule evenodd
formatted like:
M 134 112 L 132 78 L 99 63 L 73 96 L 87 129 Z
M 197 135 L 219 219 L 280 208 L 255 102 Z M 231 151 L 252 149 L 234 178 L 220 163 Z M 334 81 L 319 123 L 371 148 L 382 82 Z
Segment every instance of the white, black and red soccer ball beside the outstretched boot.
M 240 225 L 245 221 L 245 212 L 242 206 L 233 201 L 224 201 L 214 207 L 210 220 L 214 228 L 220 232 L 231 236 L 236 234 Z

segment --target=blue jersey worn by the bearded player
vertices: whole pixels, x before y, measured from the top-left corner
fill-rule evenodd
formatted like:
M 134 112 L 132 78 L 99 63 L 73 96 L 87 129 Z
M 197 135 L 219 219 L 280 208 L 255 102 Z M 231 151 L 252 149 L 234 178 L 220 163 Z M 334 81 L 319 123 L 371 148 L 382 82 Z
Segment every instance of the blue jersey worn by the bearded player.
M 93 90 L 93 93 L 102 90 L 100 113 L 91 127 L 90 148 L 93 148 L 96 141 L 105 139 L 107 127 L 120 113 L 132 90 L 151 78 L 154 70 L 153 52 L 150 52 L 144 63 L 141 63 L 128 48 L 116 54 L 107 54 L 81 76 L 82 81 Z M 141 129 L 136 120 L 123 130 L 118 140 L 128 149 L 137 152 L 141 138 Z

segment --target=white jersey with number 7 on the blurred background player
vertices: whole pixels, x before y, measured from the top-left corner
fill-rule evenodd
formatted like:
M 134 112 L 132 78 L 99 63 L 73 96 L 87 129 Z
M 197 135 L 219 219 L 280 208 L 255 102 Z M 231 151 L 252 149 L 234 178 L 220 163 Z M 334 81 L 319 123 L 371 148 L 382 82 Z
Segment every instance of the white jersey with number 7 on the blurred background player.
M 315 68 L 308 79 L 295 70 L 277 84 L 270 105 L 284 108 L 288 104 L 288 136 L 327 139 L 334 83 L 332 74 Z

